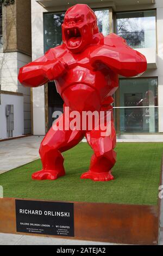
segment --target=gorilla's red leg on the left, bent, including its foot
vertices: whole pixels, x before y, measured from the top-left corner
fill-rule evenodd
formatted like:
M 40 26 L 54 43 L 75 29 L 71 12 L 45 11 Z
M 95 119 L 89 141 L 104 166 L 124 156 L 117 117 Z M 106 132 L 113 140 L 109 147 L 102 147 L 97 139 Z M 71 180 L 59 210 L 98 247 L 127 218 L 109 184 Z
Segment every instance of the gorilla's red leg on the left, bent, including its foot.
M 65 114 L 62 114 L 54 125 L 64 124 Z M 77 145 L 84 137 L 77 130 L 54 130 L 54 126 L 48 131 L 40 145 L 40 157 L 42 170 L 32 175 L 34 180 L 55 180 L 65 175 L 64 157 L 62 152 Z

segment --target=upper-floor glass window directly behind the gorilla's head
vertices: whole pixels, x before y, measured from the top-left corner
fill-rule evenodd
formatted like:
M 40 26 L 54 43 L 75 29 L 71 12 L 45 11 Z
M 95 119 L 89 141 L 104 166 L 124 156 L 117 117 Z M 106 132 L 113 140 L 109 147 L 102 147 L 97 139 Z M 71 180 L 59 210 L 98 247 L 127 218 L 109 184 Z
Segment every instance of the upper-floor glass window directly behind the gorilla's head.
M 109 10 L 95 10 L 99 32 L 103 35 L 109 34 Z M 64 21 L 65 13 L 44 14 L 44 47 L 45 52 L 50 48 L 58 46 L 62 42 L 61 24 Z

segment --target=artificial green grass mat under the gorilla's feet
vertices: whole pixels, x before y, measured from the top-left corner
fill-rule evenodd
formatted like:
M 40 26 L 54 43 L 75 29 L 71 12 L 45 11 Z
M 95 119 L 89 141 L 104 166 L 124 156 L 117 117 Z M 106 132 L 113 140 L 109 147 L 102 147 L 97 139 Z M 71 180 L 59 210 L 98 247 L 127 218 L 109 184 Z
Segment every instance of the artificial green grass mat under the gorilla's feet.
M 1 174 L 4 197 L 156 205 L 163 143 L 117 143 L 116 152 L 115 180 L 80 179 L 92 155 L 89 145 L 80 143 L 64 153 L 66 176 L 58 180 L 32 180 L 32 173 L 41 169 L 40 160 Z

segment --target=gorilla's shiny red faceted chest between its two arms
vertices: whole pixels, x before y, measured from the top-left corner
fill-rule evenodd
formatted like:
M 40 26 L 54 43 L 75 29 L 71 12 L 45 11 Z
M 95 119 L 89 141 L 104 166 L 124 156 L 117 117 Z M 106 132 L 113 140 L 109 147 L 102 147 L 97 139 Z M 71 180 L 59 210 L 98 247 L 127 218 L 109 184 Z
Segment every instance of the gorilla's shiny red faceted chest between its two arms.
M 60 56 L 60 60 L 64 61 L 68 65 L 68 71 L 65 75 L 58 78 L 55 81 L 58 93 L 62 95 L 65 89 L 71 87 L 73 84 L 83 84 L 95 90 L 103 98 L 108 95 L 113 87 L 117 87 L 114 83 L 114 74 L 105 66 L 101 65 L 99 69 L 93 68 L 90 64 L 90 52 L 92 47 L 87 48 L 84 52 L 80 54 L 72 54 L 71 52 L 66 52 Z

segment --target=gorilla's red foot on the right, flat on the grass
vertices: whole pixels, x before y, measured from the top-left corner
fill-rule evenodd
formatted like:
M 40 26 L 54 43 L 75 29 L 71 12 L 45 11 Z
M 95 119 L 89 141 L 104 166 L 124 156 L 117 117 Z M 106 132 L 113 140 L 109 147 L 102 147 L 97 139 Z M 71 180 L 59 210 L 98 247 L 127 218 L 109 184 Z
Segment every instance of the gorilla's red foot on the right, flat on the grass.
M 82 174 L 81 179 L 91 179 L 93 181 L 109 181 L 114 180 L 114 176 L 112 176 L 111 170 L 104 173 L 95 173 L 89 170 L 89 172 Z

